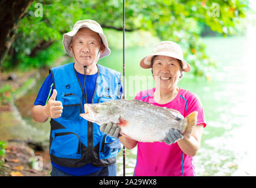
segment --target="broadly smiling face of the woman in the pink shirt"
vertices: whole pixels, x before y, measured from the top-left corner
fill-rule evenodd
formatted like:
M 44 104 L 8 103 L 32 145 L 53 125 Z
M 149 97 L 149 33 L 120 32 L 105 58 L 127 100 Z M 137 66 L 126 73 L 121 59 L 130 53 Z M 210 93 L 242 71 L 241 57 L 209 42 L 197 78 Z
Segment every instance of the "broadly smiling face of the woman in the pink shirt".
M 152 73 L 156 86 L 160 90 L 176 89 L 181 76 L 179 61 L 169 56 L 156 56 L 152 65 Z

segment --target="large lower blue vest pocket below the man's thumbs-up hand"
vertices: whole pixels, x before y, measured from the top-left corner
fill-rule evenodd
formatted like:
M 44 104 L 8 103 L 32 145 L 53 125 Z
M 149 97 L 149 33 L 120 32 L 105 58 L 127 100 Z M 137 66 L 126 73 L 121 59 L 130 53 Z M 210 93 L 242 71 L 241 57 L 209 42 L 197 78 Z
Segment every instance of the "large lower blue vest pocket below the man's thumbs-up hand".
M 51 143 L 50 155 L 67 159 L 80 159 L 80 137 L 73 132 L 55 133 Z

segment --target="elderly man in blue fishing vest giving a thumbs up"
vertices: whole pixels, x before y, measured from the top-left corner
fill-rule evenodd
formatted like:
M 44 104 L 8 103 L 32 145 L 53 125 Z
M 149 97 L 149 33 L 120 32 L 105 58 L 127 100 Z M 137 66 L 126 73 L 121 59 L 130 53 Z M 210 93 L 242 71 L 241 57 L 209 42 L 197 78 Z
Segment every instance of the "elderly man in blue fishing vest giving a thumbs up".
M 37 122 L 51 118 L 51 176 L 116 176 L 119 140 L 79 116 L 85 103 L 120 98 L 121 74 L 97 65 L 110 54 L 106 36 L 87 19 L 64 34 L 63 45 L 74 62 L 50 69 L 32 109 Z

